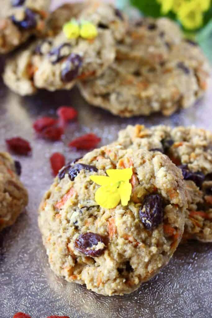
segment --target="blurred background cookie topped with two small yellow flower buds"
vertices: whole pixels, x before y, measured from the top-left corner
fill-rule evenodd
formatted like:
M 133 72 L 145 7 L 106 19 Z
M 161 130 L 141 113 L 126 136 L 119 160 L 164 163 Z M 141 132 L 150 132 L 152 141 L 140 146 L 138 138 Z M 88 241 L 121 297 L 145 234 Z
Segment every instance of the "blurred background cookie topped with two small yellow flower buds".
M 71 89 L 77 79 L 101 75 L 115 59 L 115 39 L 110 29 L 98 25 L 97 29 L 93 39 L 69 39 L 60 30 L 18 53 L 6 64 L 6 85 L 16 93 L 30 95 L 37 88 Z

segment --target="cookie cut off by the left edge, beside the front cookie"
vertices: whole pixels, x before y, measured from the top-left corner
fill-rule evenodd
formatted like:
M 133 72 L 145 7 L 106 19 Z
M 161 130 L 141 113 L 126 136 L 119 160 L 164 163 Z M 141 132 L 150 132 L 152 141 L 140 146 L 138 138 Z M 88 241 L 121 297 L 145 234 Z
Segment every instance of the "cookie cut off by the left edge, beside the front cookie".
M 20 172 L 20 163 L 0 152 L 0 231 L 12 225 L 28 204 L 27 190 L 18 177 Z

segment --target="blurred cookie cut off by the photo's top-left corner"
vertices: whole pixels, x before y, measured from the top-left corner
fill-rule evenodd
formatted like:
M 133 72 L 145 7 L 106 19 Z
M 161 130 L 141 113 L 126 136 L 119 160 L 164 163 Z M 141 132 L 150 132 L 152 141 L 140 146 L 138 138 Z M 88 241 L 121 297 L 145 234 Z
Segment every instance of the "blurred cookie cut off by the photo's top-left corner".
M 50 0 L 4 0 L 0 14 L 0 53 L 8 53 L 31 35 L 43 36 Z

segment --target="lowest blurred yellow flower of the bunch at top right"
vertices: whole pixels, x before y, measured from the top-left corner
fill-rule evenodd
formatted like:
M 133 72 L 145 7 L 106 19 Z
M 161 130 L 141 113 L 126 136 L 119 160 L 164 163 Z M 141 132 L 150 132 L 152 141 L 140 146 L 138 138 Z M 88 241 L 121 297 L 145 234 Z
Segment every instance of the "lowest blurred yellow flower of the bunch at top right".
M 186 29 L 197 29 L 203 23 L 203 15 L 196 1 L 185 2 L 177 12 L 177 17 Z

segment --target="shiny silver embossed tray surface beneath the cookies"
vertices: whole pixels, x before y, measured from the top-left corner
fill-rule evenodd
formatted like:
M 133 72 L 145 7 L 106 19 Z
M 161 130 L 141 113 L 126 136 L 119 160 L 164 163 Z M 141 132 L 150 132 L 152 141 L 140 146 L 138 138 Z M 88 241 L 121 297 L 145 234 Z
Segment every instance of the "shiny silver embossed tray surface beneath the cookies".
M 3 67 L 3 61 L 1 61 Z M 38 139 L 32 123 L 42 115 L 54 115 L 61 105 L 79 111 L 79 121 L 70 124 L 62 142 Z M 40 199 L 53 181 L 49 157 L 63 152 L 66 160 L 83 152 L 71 151 L 68 142 L 93 132 L 100 145 L 117 138 L 127 124 L 145 123 L 171 126 L 192 125 L 212 130 L 212 83 L 207 96 L 197 105 L 169 118 L 161 115 L 120 119 L 89 106 L 71 92 L 40 92 L 19 97 L 0 83 L 0 149 L 5 138 L 21 136 L 31 142 L 32 156 L 14 156 L 22 163 L 22 181 L 29 191 L 29 205 L 15 225 L 0 234 L 0 317 L 17 311 L 33 318 L 69 315 L 72 318 L 209 318 L 212 317 L 212 245 L 190 242 L 180 246 L 161 273 L 139 290 L 126 296 L 99 296 L 85 287 L 65 282 L 50 270 L 37 225 Z

